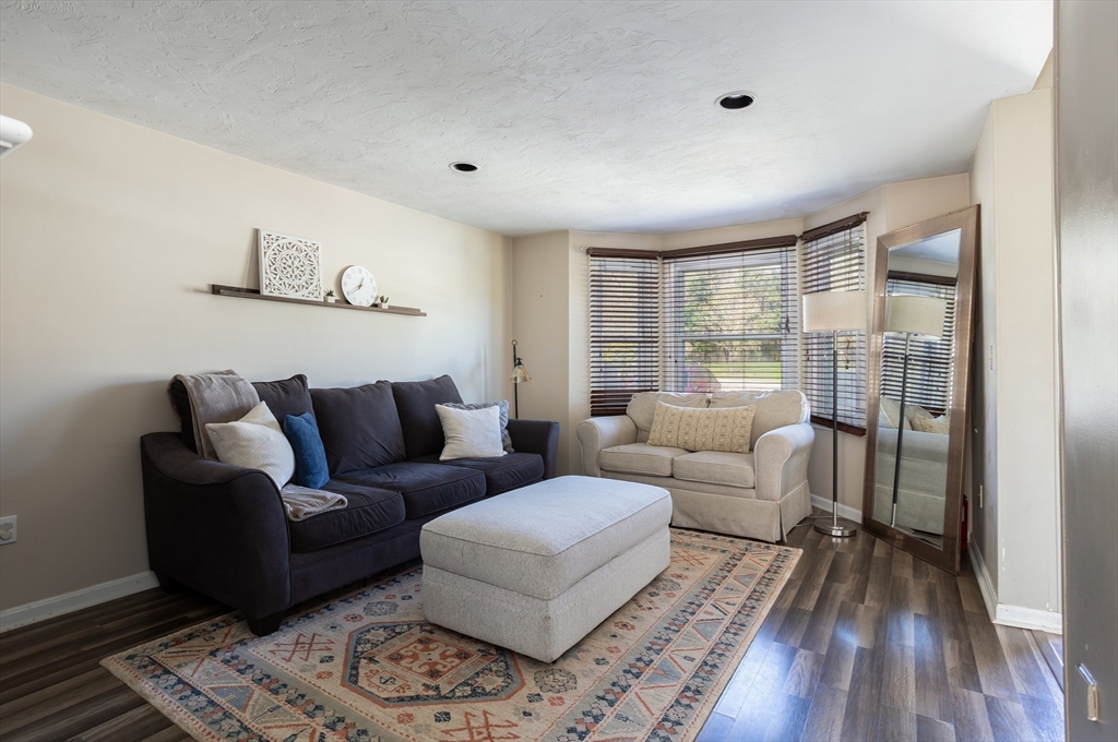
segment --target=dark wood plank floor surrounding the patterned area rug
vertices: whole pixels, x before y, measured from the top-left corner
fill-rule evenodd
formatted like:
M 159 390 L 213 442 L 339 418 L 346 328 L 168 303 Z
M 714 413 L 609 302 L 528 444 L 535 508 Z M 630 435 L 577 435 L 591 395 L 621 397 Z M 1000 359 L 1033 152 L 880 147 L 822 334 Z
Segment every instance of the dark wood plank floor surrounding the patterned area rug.
M 700 741 L 1063 739 L 1041 646 L 1059 637 L 991 624 L 969 565 L 954 578 L 864 533 L 789 543 L 804 555 Z M 0 739 L 189 740 L 98 663 L 227 610 L 148 590 L 0 634 Z

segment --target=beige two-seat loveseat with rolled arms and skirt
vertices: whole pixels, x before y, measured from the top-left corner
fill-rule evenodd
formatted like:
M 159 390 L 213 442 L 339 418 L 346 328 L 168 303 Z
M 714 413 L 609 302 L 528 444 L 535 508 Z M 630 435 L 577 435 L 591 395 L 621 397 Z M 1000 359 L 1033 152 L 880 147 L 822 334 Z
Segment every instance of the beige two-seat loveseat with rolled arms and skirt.
M 748 454 L 650 446 L 657 400 L 678 407 L 755 407 Z M 672 493 L 672 525 L 777 541 L 811 514 L 807 459 L 815 434 L 799 391 L 642 392 L 625 415 L 578 426 L 587 476 Z

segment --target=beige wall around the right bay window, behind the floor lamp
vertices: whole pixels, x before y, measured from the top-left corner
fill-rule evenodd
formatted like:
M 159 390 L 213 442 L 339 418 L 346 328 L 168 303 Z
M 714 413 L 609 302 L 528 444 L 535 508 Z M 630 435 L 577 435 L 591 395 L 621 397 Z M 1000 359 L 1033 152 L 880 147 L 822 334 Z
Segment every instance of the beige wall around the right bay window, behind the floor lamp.
M 805 229 L 869 211 L 865 220 L 865 274 L 868 289 L 873 286 L 878 237 L 915 225 L 925 219 L 958 211 L 969 206 L 969 179 L 966 173 L 910 180 L 882 185 L 859 197 L 836 203 L 804 219 Z M 871 306 L 866 306 L 866 322 Z M 807 478 L 812 494 L 831 498 L 832 441 L 831 430 L 816 426 L 815 446 L 808 464 Z M 862 510 L 865 475 L 865 438 L 839 434 L 839 502 Z

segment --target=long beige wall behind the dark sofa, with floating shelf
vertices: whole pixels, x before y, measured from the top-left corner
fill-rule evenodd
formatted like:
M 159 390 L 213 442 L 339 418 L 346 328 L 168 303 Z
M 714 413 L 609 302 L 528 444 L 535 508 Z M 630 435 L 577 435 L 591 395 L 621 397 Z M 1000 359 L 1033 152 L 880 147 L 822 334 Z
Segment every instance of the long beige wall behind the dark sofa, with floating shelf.
M 0 167 L 0 514 L 19 516 L 0 608 L 148 569 L 138 440 L 177 426 L 174 373 L 318 387 L 449 373 L 466 399 L 511 394 L 511 240 L 0 94 L 35 131 Z M 361 264 L 429 316 L 210 295 L 257 285 L 257 227 L 319 240 L 328 285 Z

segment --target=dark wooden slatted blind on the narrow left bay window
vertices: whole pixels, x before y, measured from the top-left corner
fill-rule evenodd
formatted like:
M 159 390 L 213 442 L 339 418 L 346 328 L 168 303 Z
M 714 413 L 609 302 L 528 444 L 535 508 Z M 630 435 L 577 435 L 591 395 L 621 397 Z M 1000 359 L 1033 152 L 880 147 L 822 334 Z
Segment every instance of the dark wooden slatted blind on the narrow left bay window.
M 624 415 L 660 388 L 660 256 L 589 248 L 590 415 Z

